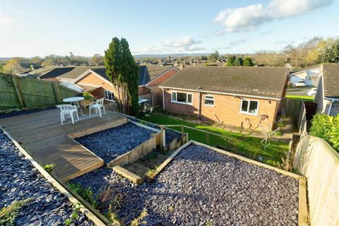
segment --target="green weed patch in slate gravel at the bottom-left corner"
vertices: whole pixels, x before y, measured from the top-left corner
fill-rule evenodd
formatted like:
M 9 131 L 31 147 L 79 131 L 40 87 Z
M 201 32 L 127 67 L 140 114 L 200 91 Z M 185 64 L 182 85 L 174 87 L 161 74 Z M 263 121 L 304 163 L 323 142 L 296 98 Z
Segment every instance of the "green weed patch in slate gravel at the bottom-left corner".
M 14 222 L 20 213 L 20 210 L 31 200 L 26 198 L 21 201 L 13 201 L 11 205 L 5 206 L 0 210 L 0 225 L 15 225 Z

